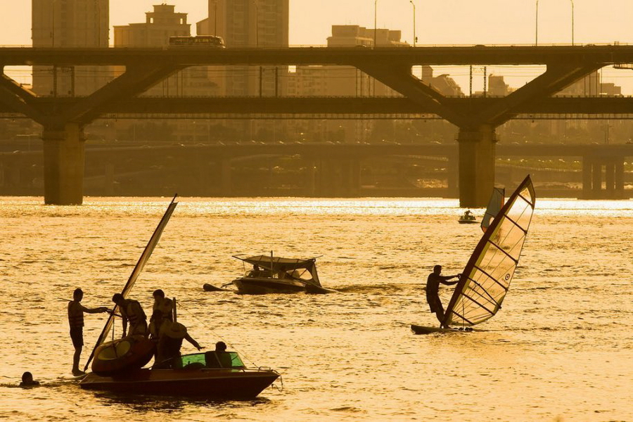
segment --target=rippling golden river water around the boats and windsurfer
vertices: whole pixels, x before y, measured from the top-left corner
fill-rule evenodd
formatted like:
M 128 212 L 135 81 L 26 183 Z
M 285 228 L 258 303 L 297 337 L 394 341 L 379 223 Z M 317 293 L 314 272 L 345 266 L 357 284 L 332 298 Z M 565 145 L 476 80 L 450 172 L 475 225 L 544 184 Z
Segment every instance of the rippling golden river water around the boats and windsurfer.
M 0 418 L 633 420 L 633 201 L 537 200 L 504 309 L 485 331 L 416 336 L 409 324 L 437 324 L 422 289 L 433 265 L 460 272 L 481 236 L 457 224 L 456 200 L 181 198 L 131 297 L 148 309 L 162 288 L 196 340 L 223 339 L 277 369 L 283 390 L 246 402 L 84 391 L 70 379 L 66 303 L 81 287 L 84 305 L 111 305 L 167 203 L 0 198 Z M 341 293 L 203 291 L 242 274 L 231 255 L 270 250 L 322 255 L 321 281 Z M 86 316 L 82 362 L 104 315 Z M 15 388 L 23 371 L 43 386 Z

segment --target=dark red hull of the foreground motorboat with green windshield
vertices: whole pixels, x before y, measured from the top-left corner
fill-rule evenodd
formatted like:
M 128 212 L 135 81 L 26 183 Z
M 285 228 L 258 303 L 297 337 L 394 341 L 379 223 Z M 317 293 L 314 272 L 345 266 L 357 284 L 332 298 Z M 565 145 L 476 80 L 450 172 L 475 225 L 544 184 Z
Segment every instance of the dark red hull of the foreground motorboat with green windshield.
M 117 377 L 89 373 L 79 385 L 126 395 L 252 399 L 278 377 L 264 369 L 139 369 Z

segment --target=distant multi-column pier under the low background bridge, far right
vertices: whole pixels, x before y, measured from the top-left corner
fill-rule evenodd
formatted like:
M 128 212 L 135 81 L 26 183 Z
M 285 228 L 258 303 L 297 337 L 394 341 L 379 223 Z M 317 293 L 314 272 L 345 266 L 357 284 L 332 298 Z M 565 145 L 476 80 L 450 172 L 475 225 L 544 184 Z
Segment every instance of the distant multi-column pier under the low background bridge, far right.
M 584 156 L 582 158 L 582 198 L 624 199 L 624 159 Z

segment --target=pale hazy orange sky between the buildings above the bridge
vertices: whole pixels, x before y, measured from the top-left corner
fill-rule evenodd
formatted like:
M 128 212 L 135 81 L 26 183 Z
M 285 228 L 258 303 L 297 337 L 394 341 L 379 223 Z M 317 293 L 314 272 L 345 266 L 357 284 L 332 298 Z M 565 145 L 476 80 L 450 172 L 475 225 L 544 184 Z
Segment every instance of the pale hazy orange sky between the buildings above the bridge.
M 144 22 L 161 0 L 110 0 L 110 25 Z M 206 0 L 171 0 L 189 23 L 207 15 Z M 418 44 L 533 44 L 536 0 L 414 0 Z M 633 0 L 539 0 L 539 44 L 571 42 L 571 5 L 577 44 L 633 44 Z M 0 0 L 0 44 L 30 44 L 30 0 Z M 325 44 L 331 25 L 373 27 L 373 0 L 290 0 L 290 44 Z M 378 0 L 378 26 L 413 40 L 409 0 Z M 110 42 L 113 40 L 110 39 Z M 514 73 L 513 73 L 514 72 Z M 517 73 L 518 72 L 518 73 Z M 529 70 L 509 74 L 527 75 Z M 630 73 L 630 75 L 629 75 Z M 629 81 L 630 79 L 630 81 Z M 520 76 L 506 78 L 520 84 Z M 514 83 L 513 83 L 514 82 Z M 606 70 L 604 82 L 633 93 L 633 71 Z M 631 87 L 629 87 L 631 85 Z

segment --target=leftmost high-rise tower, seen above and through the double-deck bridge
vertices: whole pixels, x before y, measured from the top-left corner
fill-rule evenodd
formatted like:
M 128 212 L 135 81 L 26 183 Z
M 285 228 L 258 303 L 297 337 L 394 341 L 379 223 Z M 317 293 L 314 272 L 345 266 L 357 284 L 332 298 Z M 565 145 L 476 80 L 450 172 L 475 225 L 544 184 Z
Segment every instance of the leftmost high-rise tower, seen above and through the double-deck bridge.
M 34 47 L 103 47 L 109 44 L 108 0 L 32 0 Z M 112 79 L 104 66 L 35 66 L 39 95 L 84 96 Z

